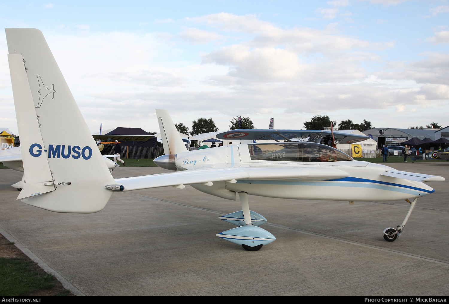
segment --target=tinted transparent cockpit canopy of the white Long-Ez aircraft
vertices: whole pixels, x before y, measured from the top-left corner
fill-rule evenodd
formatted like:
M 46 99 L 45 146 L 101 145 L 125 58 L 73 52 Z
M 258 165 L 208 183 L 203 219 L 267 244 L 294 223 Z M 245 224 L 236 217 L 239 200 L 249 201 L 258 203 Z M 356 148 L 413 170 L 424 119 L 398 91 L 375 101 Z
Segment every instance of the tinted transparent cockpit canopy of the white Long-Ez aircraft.
M 354 160 L 348 154 L 315 142 L 248 144 L 248 150 L 252 160 L 318 163 Z

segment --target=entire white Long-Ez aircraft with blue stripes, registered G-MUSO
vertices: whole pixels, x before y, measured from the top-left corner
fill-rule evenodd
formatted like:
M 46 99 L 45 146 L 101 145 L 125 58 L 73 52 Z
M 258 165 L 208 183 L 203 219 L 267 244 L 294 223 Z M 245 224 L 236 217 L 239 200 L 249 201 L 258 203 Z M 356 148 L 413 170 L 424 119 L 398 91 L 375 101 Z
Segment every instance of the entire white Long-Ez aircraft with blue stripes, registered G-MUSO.
M 383 231 L 385 240 L 394 241 L 418 198 L 435 191 L 423 182 L 445 180 L 355 161 L 315 142 L 238 144 L 187 151 L 166 110 L 156 110 L 165 155 L 154 162 L 175 172 L 114 179 L 42 33 L 6 29 L 6 38 L 26 179 L 18 199 L 32 206 L 54 212 L 93 213 L 104 208 L 114 191 L 185 188 L 190 184 L 230 200 L 238 194 L 242 210 L 220 217 L 238 227 L 217 236 L 255 251 L 276 238 L 259 227 L 266 219 L 250 211 L 248 194 L 344 201 L 412 199 L 403 223 Z M 51 98 L 40 98 L 36 76 L 46 87 L 51 86 Z

